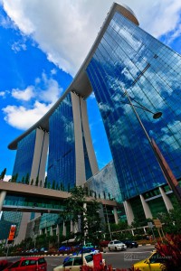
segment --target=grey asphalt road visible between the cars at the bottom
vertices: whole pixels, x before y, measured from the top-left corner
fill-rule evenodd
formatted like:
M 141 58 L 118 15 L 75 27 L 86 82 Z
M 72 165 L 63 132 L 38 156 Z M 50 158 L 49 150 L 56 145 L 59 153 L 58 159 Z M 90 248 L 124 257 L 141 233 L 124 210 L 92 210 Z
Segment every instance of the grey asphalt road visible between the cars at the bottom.
M 142 246 L 138 248 L 128 248 L 125 251 L 111 251 L 108 250 L 106 253 L 102 253 L 102 257 L 105 258 L 106 264 L 111 265 L 112 268 L 130 268 L 134 263 L 150 256 L 154 246 Z M 67 257 L 67 256 L 66 256 Z M 0 259 L 5 257 L 0 257 Z M 19 257 L 7 257 L 11 262 L 15 262 Z M 65 256 L 50 256 L 45 257 L 47 261 L 47 271 L 52 271 L 55 266 L 62 264 Z

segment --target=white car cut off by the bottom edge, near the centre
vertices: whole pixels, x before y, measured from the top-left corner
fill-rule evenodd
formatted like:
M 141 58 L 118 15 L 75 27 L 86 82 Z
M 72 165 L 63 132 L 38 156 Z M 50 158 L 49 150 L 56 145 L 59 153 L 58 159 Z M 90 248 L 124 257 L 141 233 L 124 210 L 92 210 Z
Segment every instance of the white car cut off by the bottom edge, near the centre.
M 93 267 L 93 256 L 95 253 L 84 253 L 83 254 L 83 266 Z M 97 254 L 98 255 L 98 254 Z M 69 257 L 66 262 L 61 266 L 56 266 L 53 271 L 65 271 L 71 269 L 71 271 L 80 271 L 82 266 L 81 255 L 75 255 Z M 102 259 L 102 266 L 105 266 L 105 259 Z

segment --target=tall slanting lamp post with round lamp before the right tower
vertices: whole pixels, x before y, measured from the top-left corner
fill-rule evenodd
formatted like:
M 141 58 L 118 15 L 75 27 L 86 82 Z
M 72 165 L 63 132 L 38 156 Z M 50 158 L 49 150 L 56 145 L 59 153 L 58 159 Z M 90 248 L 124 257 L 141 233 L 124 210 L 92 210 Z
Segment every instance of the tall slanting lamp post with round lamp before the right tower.
M 131 98 L 129 97 L 129 93 L 128 93 L 128 91 L 126 89 L 124 89 L 124 93 L 127 96 L 127 98 L 129 99 L 129 105 L 132 107 L 136 117 L 138 118 L 138 122 L 139 122 L 140 126 L 142 127 L 145 135 L 148 138 L 148 142 L 151 145 L 151 148 L 152 148 L 152 150 L 153 150 L 153 152 L 154 152 L 154 154 L 155 154 L 155 156 L 157 158 L 157 163 L 159 164 L 159 166 L 161 168 L 161 171 L 162 171 L 162 173 L 164 174 L 164 176 L 165 176 L 165 178 L 167 180 L 167 183 L 169 184 L 172 191 L 174 192 L 174 194 L 176 196 L 176 200 L 181 204 L 181 188 L 179 187 L 179 184 L 178 184 L 178 182 L 176 180 L 176 177 L 174 176 L 171 169 L 169 168 L 163 154 L 161 154 L 161 152 L 158 149 L 158 146 L 156 145 L 154 139 L 149 137 L 148 132 L 147 132 L 145 126 L 143 125 L 140 117 L 138 116 L 137 110 L 136 110 L 135 106 L 133 105 L 133 103 L 131 101 Z M 146 111 L 152 113 L 153 118 L 155 118 L 155 119 L 162 116 L 161 112 L 153 113 L 150 110 L 148 110 L 147 107 L 143 107 L 142 105 L 139 105 L 139 106 L 141 106 L 140 108 L 142 108 L 143 110 L 146 110 Z

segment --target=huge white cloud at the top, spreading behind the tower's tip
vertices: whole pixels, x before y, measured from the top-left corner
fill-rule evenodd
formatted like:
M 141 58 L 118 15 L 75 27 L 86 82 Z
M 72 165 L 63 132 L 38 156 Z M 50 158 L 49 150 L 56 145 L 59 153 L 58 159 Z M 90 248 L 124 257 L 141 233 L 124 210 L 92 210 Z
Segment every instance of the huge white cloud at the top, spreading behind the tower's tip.
M 47 58 L 72 75 L 81 67 L 112 5 L 111 0 L 3 0 L 3 3 L 20 30 L 31 34 Z M 156 37 L 176 29 L 180 0 L 123 3 L 137 15 L 140 26 Z

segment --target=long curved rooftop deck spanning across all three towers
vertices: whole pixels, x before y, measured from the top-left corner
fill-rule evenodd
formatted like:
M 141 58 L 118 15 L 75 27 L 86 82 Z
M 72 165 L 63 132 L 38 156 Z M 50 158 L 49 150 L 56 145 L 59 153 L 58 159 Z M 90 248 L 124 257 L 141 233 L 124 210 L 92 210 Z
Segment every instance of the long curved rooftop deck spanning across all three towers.
M 87 77 L 85 70 L 90 62 L 90 59 L 91 59 L 94 51 L 96 51 L 96 49 L 100 43 L 100 40 L 101 40 L 103 34 L 105 33 L 107 26 L 110 23 L 112 16 L 116 12 L 123 14 L 131 22 L 139 24 L 136 15 L 133 13 L 133 11 L 127 5 L 123 5 L 123 4 L 119 5 L 117 3 L 113 3 L 113 5 L 111 5 L 111 7 L 110 7 L 110 12 L 107 14 L 107 17 L 105 18 L 104 23 L 102 24 L 102 26 L 100 28 L 100 32 L 98 33 L 95 42 L 91 46 L 90 51 L 89 51 L 85 61 L 83 61 L 83 63 L 81 64 L 80 70 L 78 70 L 77 74 L 75 75 L 75 78 L 72 80 L 71 85 L 68 87 L 68 89 L 65 90 L 62 97 L 57 100 L 57 102 L 52 106 L 52 108 L 40 120 L 38 120 L 33 126 L 31 126 L 29 129 L 27 129 L 22 135 L 19 135 L 18 137 L 16 137 L 14 139 L 14 141 L 12 141 L 8 145 L 9 149 L 16 150 L 18 142 L 20 140 L 22 140 L 26 135 L 29 135 L 35 128 L 41 128 L 41 129 L 48 132 L 49 131 L 49 117 L 52 115 L 53 111 L 60 105 L 63 98 L 65 98 L 66 95 L 68 93 L 70 93 L 71 91 L 76 92 L 82 98 L 88 98 L 90 96 L 92 89 L 91 89 L 90 81 Z

